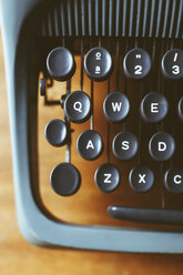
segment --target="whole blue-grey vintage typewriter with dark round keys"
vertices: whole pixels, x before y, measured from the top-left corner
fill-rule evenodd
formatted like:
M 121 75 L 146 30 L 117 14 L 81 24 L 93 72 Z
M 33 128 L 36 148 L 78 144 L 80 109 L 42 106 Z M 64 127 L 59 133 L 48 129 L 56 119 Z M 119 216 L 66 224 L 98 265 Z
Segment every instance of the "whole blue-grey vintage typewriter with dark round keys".
M 183 0 L 0 0 L 19 226 L 183 253 Z

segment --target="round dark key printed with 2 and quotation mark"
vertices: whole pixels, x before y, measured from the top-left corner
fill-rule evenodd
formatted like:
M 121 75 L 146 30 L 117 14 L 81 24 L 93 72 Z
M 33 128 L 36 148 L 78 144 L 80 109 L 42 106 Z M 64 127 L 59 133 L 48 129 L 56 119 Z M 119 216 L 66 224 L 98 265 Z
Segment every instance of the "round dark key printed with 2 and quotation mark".
M 143 79 L 151 70 L 151 58 L 143 49 L 132 49 L 124 57 L 123 69 L 128 78 Z

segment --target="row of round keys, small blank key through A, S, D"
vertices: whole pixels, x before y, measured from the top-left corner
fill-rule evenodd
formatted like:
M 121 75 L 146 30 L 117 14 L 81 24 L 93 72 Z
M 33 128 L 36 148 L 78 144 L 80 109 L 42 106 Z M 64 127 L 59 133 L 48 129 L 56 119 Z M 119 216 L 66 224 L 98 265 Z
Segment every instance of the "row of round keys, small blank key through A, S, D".
M 69 133 L 67 125 L 61 120 L 52 120 L 45 126 L 45 138 L 54 146 L 65 144 Z M 77 147 L 80 155 L 89 161 L 98 159 L 103 151 L 103 141 L 101 135 L 94 130 L 82 132 L 77 141 Z M 138 138 L 128 131 L 118 133 L 112 141 L 112 151 L 116 159 L 129 161 L 133 159 L 139 150 Z M 149 152 L 155 161 L 167 161 L 175 151 L 175 141 L 166 132 L 155 133 L 149 142 Z

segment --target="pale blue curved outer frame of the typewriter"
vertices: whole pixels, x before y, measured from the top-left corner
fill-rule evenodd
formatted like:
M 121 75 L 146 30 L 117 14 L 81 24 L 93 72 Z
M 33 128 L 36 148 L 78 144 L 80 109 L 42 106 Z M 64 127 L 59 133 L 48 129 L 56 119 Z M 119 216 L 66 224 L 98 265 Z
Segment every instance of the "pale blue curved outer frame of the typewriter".
M 16 69 L 21 24 L 29 13 L 29 10 L 41 1 L 42 0 L 0 0 L 16 203 L 19 227 L 22 235 L 29 242 L 43 246 L 65 246 L 114 252 L 183 253 L 182 233 L 145 232 L 104 226 L 61 224 L 48 218 L 37 206 L 31 191 L 28 157 L 27 90 L 29 75 L 24 72 L 23 79 L 18 81 L 17 78 L 20 78 L 20 75 L 16 73 Z M 10 7 L 10 4 L 13 6 Z M 23 8 L 21 4 L 23 4 Z M 21 7 L 21 14 L 19 14 L 19 8 L 17 7 Z M 9 20 L 10 14 L 12 20 Z M 24 55 L 24 58 L 27 57 Z M 23 62 L 26 61 L 27 60 L 23 60 Z M 17 78 L 14 78 L 14 75 L 17 75 Z

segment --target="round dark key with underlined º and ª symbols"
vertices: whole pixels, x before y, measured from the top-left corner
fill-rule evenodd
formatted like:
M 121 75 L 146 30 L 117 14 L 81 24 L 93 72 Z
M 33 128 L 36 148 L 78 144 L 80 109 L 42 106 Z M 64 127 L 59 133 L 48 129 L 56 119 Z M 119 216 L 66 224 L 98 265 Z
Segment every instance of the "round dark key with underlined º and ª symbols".
M 88 77 L 94 81 L 108 79 L 112 71 L 112 58 L 104 48 L 92 48 L 85 55 L 84 69 Z

